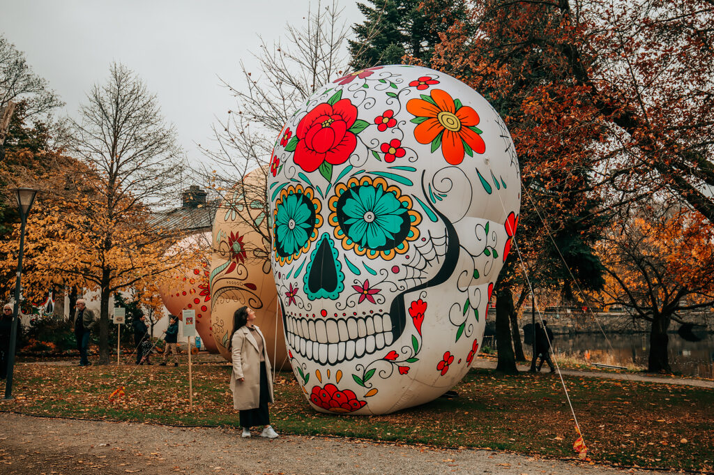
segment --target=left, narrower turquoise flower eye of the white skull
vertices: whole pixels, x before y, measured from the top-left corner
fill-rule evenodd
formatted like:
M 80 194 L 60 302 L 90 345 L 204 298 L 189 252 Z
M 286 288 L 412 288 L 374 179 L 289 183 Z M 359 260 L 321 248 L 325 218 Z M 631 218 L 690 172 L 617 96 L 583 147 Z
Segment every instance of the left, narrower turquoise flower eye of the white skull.
M 321 204 L 311 188 L 288 186 L 273 210 L 273 253 L 281 266 L 310 248 L 322 225 Z

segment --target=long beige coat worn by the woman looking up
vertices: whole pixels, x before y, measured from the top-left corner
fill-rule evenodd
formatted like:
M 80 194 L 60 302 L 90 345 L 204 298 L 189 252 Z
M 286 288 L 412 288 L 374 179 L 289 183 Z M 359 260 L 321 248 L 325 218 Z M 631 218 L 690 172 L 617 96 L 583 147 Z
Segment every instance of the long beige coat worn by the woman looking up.
M 261 329 L 256 325 L 256 330 L 263 336 Z M 268 359 L 268 349 L 263 337 L 263 359 L 266 361 L 268 371 L 268 394 L 273 402 L 273 378 L 271 364 Z M 233 408 L 242 411 L 256 409 L 260 405 L 261 396 L 261 359 L 258 353 L 258 343 L 251 335 L 247 326 L 233 334 L 231 340 L 231 355 L 233 356 L 233 371 L 231 371 L 231 391 L 233 391 Z M 245 378 L 245 381 L 239 379 Z

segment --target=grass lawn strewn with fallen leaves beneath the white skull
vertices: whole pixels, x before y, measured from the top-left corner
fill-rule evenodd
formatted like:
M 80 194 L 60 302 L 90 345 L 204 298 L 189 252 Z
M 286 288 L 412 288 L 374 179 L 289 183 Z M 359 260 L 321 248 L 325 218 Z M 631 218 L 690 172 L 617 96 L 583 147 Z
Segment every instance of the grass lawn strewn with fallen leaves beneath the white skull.
M 110 402 L 109 395 L 133 370 L 133 366 L 18 364 L 15 399 L 0 400 L 0 410 L 160 424 L 239 425 L 228 388 L 230 366 L 194 366 L 193 409 L 188 404 L 186 366 L 143 366 L 126 384 L 126 394 Z M 711 389 L 573 376 L 565 384 L 593 461 L 713 470 Z M 368 417 L 313 411 L 290 373 L 277 374 L 275 389 L 271 419 L 284 433 L 574 456 L 573 418 L 554 375 L 505 376 L 475 369 L 454 388 L 459 394 L 456 399 Z

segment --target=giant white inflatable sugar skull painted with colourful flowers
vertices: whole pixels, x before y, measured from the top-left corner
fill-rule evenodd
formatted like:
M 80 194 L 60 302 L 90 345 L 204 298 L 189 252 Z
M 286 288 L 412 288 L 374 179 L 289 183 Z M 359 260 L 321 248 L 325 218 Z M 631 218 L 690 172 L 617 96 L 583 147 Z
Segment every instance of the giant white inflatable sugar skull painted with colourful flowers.
M 461 380 L 521 201 L 486 99 L 422 67 L 337 79 L 281 131 L 268 199 L 291 365 L 315 409 L 386 414 Z

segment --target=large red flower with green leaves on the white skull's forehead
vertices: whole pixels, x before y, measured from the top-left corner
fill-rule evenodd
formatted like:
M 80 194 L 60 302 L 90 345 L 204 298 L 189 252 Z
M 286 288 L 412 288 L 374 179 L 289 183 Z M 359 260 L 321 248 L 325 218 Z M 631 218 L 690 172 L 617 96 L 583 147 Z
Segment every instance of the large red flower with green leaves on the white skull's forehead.
M 356 119 L 357 108 L 349 99 L 318 104 L 298 124 L 295 163 L 308 172 L 324 162 L 343 164 L 357 147 L 357 137 L 349 131 Z

